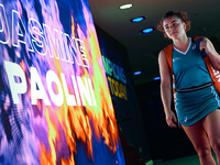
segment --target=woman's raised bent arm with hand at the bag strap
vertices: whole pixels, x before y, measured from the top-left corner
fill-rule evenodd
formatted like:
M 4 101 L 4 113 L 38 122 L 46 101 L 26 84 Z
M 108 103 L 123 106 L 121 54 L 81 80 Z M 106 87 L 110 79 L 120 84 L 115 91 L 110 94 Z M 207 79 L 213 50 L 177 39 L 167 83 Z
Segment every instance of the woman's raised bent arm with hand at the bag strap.
M 207 37 L 204 37 L 204 41 L 200 42 L 200 51 L 202 51 L 204 48 L 209 55 L 211 66 L 216 70 L 220 70 L 220 55 L 217 53 L 211 41 Z

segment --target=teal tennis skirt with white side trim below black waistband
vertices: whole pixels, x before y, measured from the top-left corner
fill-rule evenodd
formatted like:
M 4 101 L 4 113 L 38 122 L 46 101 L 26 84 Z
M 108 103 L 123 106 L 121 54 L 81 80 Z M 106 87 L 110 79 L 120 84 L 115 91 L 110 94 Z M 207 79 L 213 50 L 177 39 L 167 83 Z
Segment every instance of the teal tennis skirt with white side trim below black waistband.
M 180 124 L 193 125 L 220 107 L 220 100 L 215 87 L 187 92 L 175 94 L 175 108 Z

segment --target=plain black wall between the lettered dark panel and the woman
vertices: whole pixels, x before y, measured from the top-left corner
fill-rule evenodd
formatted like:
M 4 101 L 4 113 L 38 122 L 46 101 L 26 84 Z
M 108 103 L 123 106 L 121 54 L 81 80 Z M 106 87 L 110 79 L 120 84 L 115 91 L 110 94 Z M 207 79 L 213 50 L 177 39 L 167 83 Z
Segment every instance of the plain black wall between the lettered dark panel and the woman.
M 183 129 L 172 129 L 166 124 L 160 84 L 157 80 L 136 87 L 152 160 L 168 161 L 195 155 L 196 151 Z

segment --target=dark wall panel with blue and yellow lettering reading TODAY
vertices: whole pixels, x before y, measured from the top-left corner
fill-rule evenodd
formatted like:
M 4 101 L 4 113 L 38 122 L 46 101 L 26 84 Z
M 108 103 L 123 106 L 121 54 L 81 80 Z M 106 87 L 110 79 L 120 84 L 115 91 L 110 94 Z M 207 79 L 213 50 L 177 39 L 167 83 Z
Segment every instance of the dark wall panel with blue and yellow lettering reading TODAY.
M 116 73 L 109 72 L 108 67 L 105 68 L 118 124 L 129 144 L 135 148 L 144 162 L 148 162 L 151 155 L 147 134 L 143 127 L 142 114 L 131 78 L 127 48 L 97 25 L 96 30 L 105 65 L 108 66 L 108 63 L 110 63 L 111 67 L 114 65 L 114 69 L 118 68 L 118 70 L 114 70 Z M 118 86 L 113 86 L 112 81 L 117 82 Z M 121 87 L 123 88 L 122 91 L 120 91 Z M 119 90 L 118 94 L 116 94 L 116 90 Z

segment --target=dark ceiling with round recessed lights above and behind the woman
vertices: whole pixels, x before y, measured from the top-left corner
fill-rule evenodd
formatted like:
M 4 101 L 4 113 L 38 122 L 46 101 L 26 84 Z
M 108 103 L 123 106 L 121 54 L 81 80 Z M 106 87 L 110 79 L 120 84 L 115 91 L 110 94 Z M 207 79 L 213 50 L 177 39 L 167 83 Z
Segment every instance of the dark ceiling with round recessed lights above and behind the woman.
M 127 47 L 131 72 L 142 72 L 133 77 L 135 85 L 153 81 L 160 76 L 158 52 L 170 41 L 157 30 L 148 34 L 140 31 L 156 29 L 167 11 L 188 13 L 191 21 L 189 36 L 204 35 L 220 43 L 220 0 L 89 0 L 89 3 L 95 24 Z M 120 10 L 119 7 L 125 3 L 133 7 Z M 136 16 L 145 16 L 145 20 L 132 23 L 130 20 Z

